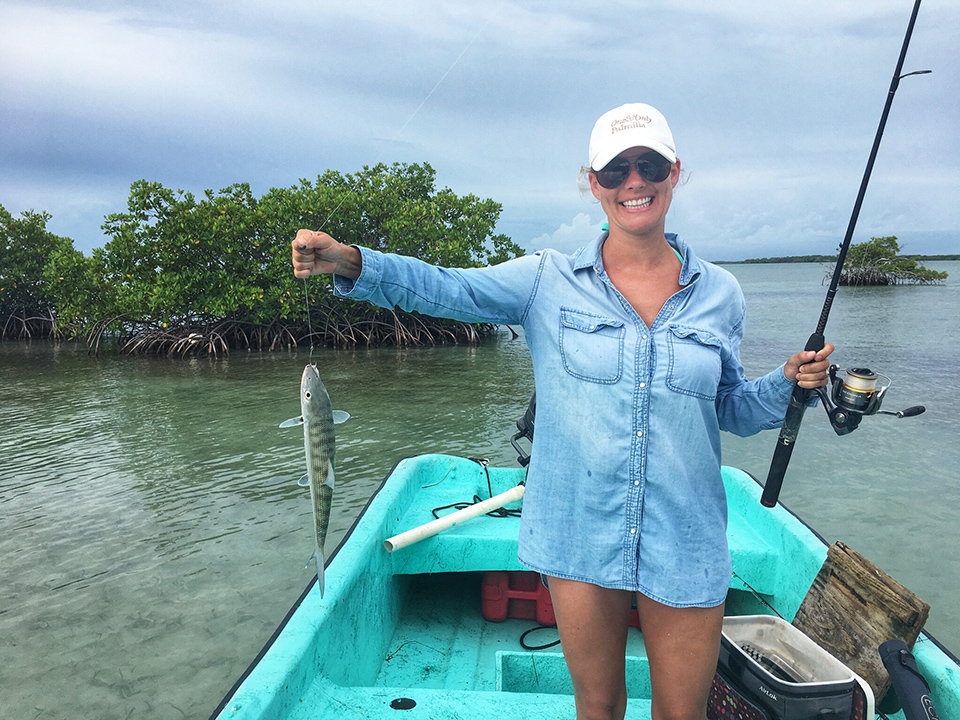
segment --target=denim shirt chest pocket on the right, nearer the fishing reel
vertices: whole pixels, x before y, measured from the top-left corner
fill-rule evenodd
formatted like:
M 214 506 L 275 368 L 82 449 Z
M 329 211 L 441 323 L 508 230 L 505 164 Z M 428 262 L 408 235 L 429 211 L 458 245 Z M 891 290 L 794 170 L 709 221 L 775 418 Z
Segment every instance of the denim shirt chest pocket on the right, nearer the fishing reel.
M 722 369 L 720 339 L 706 330 L 671 325 L 667 348 L 667 387 L 704 400 L 716 399 Z

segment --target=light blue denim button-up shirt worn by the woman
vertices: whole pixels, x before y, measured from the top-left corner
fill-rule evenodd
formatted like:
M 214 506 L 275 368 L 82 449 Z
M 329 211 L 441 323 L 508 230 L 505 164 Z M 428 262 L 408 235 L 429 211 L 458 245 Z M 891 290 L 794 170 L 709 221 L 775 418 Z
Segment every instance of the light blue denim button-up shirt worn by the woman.
M 720 430 L 779 426 L 781 368 L 748 381 L 736 279 L 675 235 L 681 290 L 647 327 L 610 282 L 606 233 L 573 255 L 545 250 L 453 270 L 361 248 L 336 292 L 467 322 L 522 325 L 537 429 L 520 522 L 532 570 L 639 591 L 677 607 L 722 603 L 730 582 Z

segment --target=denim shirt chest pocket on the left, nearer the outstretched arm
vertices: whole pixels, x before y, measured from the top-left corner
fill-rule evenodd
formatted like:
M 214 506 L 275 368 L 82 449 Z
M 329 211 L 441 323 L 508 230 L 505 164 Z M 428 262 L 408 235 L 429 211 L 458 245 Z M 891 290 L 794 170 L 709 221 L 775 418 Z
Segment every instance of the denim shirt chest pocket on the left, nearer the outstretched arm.
M 560 308 L 560 356 L 580 380 L 613 384 L 623 373 L 623 322 Z

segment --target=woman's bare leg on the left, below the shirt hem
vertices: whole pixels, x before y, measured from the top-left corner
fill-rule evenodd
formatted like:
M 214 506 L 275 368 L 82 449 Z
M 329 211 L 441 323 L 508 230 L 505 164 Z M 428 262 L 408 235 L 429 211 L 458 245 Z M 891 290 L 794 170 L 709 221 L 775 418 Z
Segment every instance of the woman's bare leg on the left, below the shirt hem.
M 550 578 L 560 644 L 573 680 L 577 720 L 622 720 L 632 593 Z M 701 719 L 702 720 L 702 719 Z

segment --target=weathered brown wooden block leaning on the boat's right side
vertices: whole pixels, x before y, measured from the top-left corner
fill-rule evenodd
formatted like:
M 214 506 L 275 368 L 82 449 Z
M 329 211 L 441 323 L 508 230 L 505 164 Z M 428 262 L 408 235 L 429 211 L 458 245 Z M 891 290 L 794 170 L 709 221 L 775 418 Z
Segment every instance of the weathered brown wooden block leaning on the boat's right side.
M 880 644 L 920 635 L 930 606 L 843 543 L 827 559 L 803 599 L 794 627 L 870 683 L 879 701 L 890 686 Z

